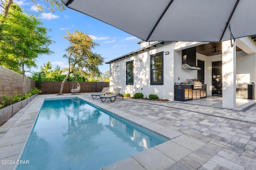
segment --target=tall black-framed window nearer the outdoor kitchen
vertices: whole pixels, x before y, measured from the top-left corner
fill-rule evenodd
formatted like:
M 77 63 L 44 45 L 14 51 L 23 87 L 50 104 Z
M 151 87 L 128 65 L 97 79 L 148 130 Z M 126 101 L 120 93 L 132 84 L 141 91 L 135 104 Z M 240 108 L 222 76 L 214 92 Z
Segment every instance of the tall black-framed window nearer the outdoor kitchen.
M 163 61 L 164 52 L 157 53 L 150 56 L 150 84 L 163 85 Z

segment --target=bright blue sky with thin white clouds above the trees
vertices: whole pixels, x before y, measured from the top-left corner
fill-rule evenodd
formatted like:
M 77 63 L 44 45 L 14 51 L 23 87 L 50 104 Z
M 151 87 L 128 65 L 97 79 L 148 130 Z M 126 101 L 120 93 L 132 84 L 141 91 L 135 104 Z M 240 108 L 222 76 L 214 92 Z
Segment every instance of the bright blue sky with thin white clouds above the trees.
M 71 33 L 75 30 L 82 31 L 92 36 L 94 41 L 100 44 L 100 46 L 94 49 L 94 52 L 104 57 L 104 62 L 140 48 L 140 45 L 137 44 L 140 39 L 74 10 L 66 8 L 63 12 L 55 10 L 52 13 L 45 10 L 45 12 L 38 13 L 36 8 L 30 3 L 30 0 L 14 0 L 14 2 L 24 8 L 26 12 L 39 16 L 44 23 L 44 27 L 52 30 L 49 32 L 49 35 L 55 41 L 54 44 L 50 45 L 50 49 L 54 51 L 54 54 L 50 56 L 43 55 L 38 58 L 38 68 L 32 68 L 32 71 L 40 71 L 40 66 L 48 61 L 52 64 L 53 69 L 57 65 L 60 65 L 61 68 L 68 68 L 68 64 L 65 64 L 67 62 L 66 59 L 62 57 L 69 45 L 68 41 L 63 38 L 67 34 L 67 30 Z M 109 64 L 104 63 L 99 68 L 101 72 L 105 73 L 109 70 Z

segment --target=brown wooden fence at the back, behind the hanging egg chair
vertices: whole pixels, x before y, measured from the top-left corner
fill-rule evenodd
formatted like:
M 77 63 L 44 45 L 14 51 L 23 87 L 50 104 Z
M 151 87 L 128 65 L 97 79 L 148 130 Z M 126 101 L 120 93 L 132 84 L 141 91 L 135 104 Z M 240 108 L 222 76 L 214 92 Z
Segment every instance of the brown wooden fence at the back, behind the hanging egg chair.
M 103 87 L 109 87 L 109 82 L 78 82 L 79 93 L 100 92 Z M 42 94 L 58 94 L 61 82 L 42 82 Z M 62 93 L 71 93 L 72 82 L 65 82 Z

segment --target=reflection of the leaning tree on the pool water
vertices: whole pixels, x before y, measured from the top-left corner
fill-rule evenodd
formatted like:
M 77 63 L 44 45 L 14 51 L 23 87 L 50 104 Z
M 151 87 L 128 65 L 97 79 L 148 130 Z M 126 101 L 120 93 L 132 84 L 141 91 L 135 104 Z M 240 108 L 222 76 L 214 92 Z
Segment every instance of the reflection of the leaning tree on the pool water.
M 98 148 L 92 139 L 103 131 L 102 123 L 98 123 L 100 115 L 100 111 L 94 110 L 82 118 L 68 117 L 68 129 L 63 133 L 63 137 L 67 137 L 64 141 L 66 160 L 83 161 Z M 78 143 L 80 147 L 76 146 Z

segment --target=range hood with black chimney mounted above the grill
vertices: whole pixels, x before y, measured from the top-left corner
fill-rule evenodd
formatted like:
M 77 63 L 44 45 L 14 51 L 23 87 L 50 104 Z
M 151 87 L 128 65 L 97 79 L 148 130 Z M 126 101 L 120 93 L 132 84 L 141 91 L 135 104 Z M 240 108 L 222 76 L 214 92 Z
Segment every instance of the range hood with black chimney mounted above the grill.
M 200 67 L 196 66 L 196 49 L 182 50 L 182 69 L 201 70 Z

